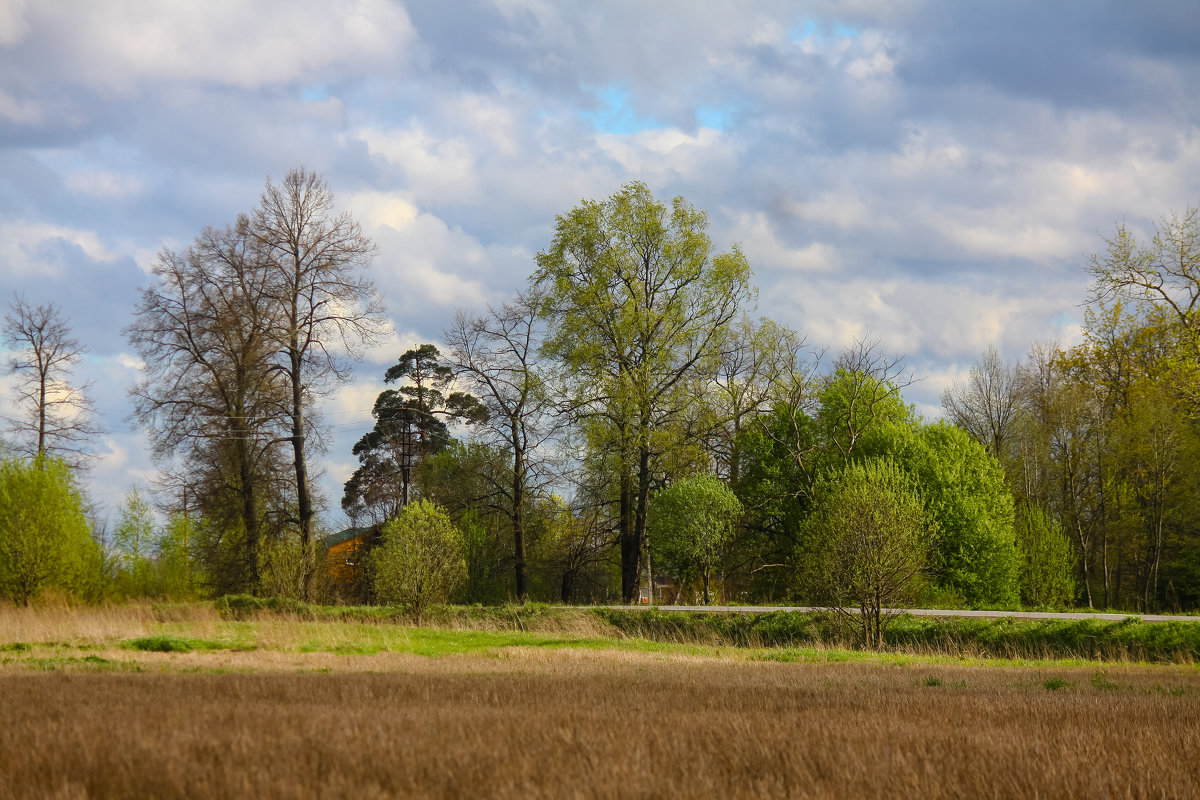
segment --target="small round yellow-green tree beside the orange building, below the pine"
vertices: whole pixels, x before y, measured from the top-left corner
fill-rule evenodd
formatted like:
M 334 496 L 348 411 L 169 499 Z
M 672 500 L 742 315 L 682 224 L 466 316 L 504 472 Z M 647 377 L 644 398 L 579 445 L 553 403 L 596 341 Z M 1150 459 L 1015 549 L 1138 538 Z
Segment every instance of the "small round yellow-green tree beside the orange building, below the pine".
M 445 511 L 428 500 L 409 504 L 384 525 L 383 543 L 371 554 L 376 597 L 420 618 L 466 578 L 462 551 L 462 534 Z

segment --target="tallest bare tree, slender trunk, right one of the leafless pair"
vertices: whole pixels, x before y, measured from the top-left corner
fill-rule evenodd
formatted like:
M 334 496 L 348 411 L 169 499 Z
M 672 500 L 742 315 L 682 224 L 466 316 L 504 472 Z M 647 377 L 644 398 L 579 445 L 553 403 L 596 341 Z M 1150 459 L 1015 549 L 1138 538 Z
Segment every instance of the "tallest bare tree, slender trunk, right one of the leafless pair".
M 269 273 L 275 369 L 289 390 L 283 411 L 295 470 L 295 523 L 308 552 L 316 505 L 306 411 L 314 397 L 350 380 L 349 359 L 383 332 L 382 301 L 362 275 L 376 248 L 349 213 L 334 211 L 329 185 L 304 168 L 278 185 L 268 180 L 247 224 Z

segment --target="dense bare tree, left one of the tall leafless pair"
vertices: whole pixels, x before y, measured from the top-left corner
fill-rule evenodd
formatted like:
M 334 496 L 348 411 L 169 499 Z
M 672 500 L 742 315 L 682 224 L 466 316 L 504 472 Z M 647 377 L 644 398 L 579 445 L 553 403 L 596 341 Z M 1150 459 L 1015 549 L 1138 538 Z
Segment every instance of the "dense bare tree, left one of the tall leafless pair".
M 205 229 L 184 253 L 163 251 L 152 273 L 126 329 L 144 362 L 133 416 L 182 497 L 221 530 L 236 521 L 245 536 L 232 548 L 240 553 L 212 553 L 216 585 L 252 590 L 264 517 L 284 505 L 276 445 L 287 387 L 270 360 L 270 273 L 245 224 Z

